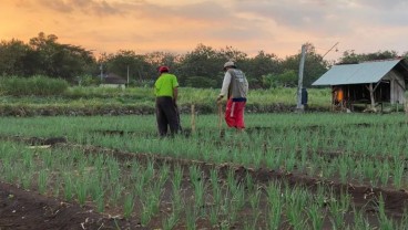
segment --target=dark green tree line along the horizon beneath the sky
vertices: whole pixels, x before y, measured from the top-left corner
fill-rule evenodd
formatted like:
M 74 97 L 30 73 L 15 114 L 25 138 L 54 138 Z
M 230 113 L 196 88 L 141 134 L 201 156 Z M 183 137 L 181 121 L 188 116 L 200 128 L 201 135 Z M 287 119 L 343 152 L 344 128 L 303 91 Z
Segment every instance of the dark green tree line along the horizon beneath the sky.
M 325 61 L 310 43 L 307 44 L 304 69 L 304 86 L 322 76 L 333 63 Z M 404 56 L 407 56 L 405 52 Z M 356 54 L 345 51 L 339 63 L 397 58 L 395 51 Z M 223 64 L 233 60 L 242 69 L 253 88 L 294 87 L 300 61 L 297 54 L 279 59 L 274 53 L 259 51 L 248 56 L 235 48 L 214 49 L 204 44 L 187 53 L 150 52 L 139 54 L 131 50 L 103 53 L 98 59 L 93 51 L 79 45 L 62 44 L 54 34 L 40 32 L 28 43 L 12 39 L 0 43 L 0 76 L 45 75 L 67 80 L 71 84 L 99 84 L 101 74 L 114 73 L 130 80 L 131 85 L 150 86 L 157 77 L 157 66 L 167 65 L 176 74 L 182 86 L 220 87 Z

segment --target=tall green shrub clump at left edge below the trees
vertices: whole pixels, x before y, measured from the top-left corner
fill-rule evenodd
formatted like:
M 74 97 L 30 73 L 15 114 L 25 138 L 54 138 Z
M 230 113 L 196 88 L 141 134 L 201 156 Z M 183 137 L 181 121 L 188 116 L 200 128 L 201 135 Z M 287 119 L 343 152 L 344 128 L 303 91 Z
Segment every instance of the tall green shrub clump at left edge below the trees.
M 4 95 L 61 95 L 68 88 L 68 82 L 61 79 L 50 79 L 35 75 L 29 79 L 11 76 L 0 80 L 0 91 Z

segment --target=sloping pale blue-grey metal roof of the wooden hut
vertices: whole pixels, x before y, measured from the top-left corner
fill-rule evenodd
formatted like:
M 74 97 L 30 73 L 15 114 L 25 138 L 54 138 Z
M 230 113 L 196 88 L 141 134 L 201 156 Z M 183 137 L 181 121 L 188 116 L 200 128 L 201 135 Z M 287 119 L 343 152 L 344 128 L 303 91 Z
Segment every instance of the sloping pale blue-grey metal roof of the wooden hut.
M 364 62 L 358 64 L 334 65 L 312 85 L 349 85 L 379 82 L 396 65 L 402 65 L 408 77 L 408 63 L 405 59 Z

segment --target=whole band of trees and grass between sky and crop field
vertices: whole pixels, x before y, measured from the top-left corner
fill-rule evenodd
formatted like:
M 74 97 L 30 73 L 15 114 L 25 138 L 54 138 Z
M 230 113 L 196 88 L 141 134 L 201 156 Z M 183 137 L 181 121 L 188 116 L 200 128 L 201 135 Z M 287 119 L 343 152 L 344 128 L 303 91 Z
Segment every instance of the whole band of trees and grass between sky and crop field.
M 327 111 L 329 91 L 313 88 L 312 83 L 335 62 L 324 60 L 312 43 L 306 45 L 303 85 L 308 90 L 308 108 Z M 338 62 L 407 55 L 408 52 L 400 55 L 396 51 L 363 54 L 345 51 Z M 294 109 L 300 51 L 280 59 L 262 50 L 249 56 L 232 46 L 214 49 L 197 44 L 184 54 L 119 50 L 95 56 L 93 51 L 61 44 L 57 35 L 40 32 L 28 43 L 14 39 L 0 42 L 0 112 L 21 116 L 153 113 L 152 85 L 159 76 L 157 66 L 167 65 L 181 85 L 182 112 L 194 104 L 200 113 L 213 113 L 217 109 L 214 101 L 222 85 L 223 65 L 230 60 L 235 61 L 249 82 L 249 113 Z M 128 88 L 98 87 L 108 73 L 129 79 Z

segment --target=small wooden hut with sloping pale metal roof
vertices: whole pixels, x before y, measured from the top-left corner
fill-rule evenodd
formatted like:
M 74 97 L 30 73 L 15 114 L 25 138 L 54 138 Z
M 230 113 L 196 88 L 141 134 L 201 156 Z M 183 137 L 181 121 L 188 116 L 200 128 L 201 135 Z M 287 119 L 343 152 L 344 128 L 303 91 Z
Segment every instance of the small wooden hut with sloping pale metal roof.
M 406 59 L 334 65 L 312 85 L 330 85 L 334 107 L 353 111 L 355 104 L 405 104 Z

